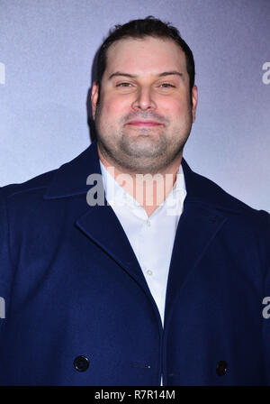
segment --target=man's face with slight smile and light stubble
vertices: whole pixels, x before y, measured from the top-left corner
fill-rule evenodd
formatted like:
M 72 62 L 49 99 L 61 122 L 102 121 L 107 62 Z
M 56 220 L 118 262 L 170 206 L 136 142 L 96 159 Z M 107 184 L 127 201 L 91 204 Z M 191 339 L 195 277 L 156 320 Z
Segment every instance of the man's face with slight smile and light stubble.
M 147 37 L 112 43 L 100 100 L 92 88 L 98 150 L 109 164 L 158 172 L 181 159 L 195 119 L 184 51 L 171 40 Z

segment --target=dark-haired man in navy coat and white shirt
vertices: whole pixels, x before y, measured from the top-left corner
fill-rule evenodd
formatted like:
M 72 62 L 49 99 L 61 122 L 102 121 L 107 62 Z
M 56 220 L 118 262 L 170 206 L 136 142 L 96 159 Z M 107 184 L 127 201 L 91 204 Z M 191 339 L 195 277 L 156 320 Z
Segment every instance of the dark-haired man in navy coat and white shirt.
M 103 42 L 97 142 L 1 189 L 1 384 L 269 384 L 269 215 L 184 161 L 196 106 L 174 27 Z

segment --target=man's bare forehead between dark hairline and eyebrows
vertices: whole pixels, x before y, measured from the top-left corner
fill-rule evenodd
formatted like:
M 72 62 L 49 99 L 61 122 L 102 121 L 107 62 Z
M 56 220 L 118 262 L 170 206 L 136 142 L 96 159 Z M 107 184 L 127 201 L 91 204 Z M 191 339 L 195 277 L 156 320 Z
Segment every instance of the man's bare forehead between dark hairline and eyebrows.
M 170 70 L 186 71 L 184 51 L 173 40 L 147 37 L 123 39 L 107 50 L 104 76 L 114 71 L 130 74 L 158 74 Z

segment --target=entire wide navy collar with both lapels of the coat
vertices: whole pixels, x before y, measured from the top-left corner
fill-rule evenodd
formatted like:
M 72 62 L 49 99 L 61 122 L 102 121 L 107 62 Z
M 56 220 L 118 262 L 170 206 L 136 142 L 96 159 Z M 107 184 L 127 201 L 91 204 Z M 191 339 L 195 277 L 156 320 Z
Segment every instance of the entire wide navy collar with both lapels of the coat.
M 190 274 L 198 268 L 198 263 L 209 248 L 212 239 L 226 223 L 228 216 L 237 214 L 242 208 L 241 202 L 230 197 L 210 179 L 194 173 L 184 159 L 182 167 L 187 194 L 175 234 L 169 268 L 165 326 L 172 318 L 180 291 L 184 288 Z M 86 185 L 86 179 L 94 173 L 101 174 L 96 142 L 93 142 L 76 159 L 67 162 L 56 171 L 44 198 L 55 199 L 86 194 L 90 188 Z M 90 207 L 85 199 L 85 213 L 76 219 L 75 225 L 104 253 L 110 255 L 114 262 L 118 262 L 122 270 L 126 271 L 144 290 L 155 308 L 161 329 L 156 302 L 148 289 L 147 281 L 128 237 L 112 207 L 106 204 Z

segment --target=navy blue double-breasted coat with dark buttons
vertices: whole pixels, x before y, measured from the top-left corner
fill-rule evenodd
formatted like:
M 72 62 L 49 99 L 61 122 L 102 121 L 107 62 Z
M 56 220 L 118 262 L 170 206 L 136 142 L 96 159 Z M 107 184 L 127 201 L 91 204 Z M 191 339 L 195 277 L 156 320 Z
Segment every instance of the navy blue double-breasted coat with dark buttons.
M 112 207 L 86 203 L 95 142 L 0 189 L 0 384 L 270 383 L 269 215 L 182 165 L 164 330 Z

